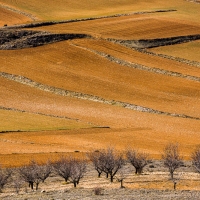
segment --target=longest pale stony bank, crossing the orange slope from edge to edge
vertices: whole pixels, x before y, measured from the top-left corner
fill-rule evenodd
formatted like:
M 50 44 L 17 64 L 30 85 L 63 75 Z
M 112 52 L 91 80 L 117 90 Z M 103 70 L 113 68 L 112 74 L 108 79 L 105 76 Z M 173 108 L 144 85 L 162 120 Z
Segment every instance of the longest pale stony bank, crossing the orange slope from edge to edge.
M 102 97 L 98 97 L 95 95 L 64 90 L 61 88 L 56 88 L 53 86 L 35 82 L 29 78 L 26 78 L 26 77 L 20 76 L 20 75 L 13 75 L 13 74 L 5 73 L 5 72 L 0 72 L 0 76 L 7 78 L 9 80 L 12 80 L 12 81 L 16 81 L 18 83 L 22 83 L 24 85 L 28 85 L 28 86 L 46 91 L 46 92 L 51 92 L 51 93 L 57 94 L 57 95 L 68 96 L 68 97 L 73 97 L 73 98 L 78 98 L 78 99 L 83 99 L 83 100 L 89 100 L 89 101 L 94 101 L 94 102 L 99 102 L 99 103 L 104 103 L 104 104 L 109 104 L 109 105 L 121 106 L 126 109 L 131 109 L 131 110 L 135 110 L 135 111 L 139 111 L 139 112 L 146 112 L 146 113 L 153 113 L 153 114 L 159 114 L 159 115 L 168 115 L 168 116 L 172 116 L 172 117 L 181 117 L 181 118 L 190 118 L 190 119 L 200 120 L 199 117 L 188 116 L 185 114 L 164 112 L 164 111 L 159 111 L 159 110 L 155 110 L 152 108 L 143 107 L 143 106 L 139 106 L 136 104 L 127 103 L 127 102 L 122 102 L 122 101 L 117 101 L 117 100 L 108 100 L 108 99 L 104 99 Z

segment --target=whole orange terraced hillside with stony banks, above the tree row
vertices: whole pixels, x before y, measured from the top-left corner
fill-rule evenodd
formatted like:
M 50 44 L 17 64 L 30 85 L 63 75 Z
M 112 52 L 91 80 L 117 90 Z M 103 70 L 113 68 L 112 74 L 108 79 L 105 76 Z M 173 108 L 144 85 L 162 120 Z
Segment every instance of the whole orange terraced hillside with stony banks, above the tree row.
M 0 31 L 4 166 L 111 144 L 160 159 L 165 144 L 178 142 L 189 159 L 200 143 L 199 4 L 0 5 L 0 25 L 8 24 Z

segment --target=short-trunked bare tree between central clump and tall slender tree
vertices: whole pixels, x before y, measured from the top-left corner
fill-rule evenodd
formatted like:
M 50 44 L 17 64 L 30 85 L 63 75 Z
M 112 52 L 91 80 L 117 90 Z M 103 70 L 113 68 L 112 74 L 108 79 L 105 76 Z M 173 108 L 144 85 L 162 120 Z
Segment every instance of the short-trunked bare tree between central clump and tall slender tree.
M 141 174 L 144 167 L 150 162 L 149 154 L 138 152 L 135 149 L 128 149 L 126 157 L 133 167 L 135 167 L 135 174 Z

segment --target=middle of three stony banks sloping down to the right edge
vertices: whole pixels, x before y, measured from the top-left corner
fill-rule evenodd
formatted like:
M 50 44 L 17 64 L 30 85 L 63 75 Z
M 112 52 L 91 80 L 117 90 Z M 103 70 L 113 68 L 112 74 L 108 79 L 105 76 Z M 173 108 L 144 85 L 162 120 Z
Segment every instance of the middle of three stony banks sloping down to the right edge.
M 174 76 L 174 77 L 179 77 L 179 78 L 184 78 L 184 79 L 200 82 L 200 77 L 197 77 L 197 76 L 191 76 L 191 75 L 182 74 L 182 73 L 179 73 L 179 72 L 168 71 L 168 70 L 164 70 L 164 69 L 160 69 L 160 68 L 152 68 L 152 67 L 144 66 L 144 65 L 141 65 L 141 64 L 128 62 L 128 61 L 119 59 L 117 57 L 111 56 L 109 54 L 106 54 L 104 52 L 96 51 L 96 50 L 93 50 L 93 49 L 90 49 L 90 48 L 79 46 L 77 44 L 73 44 L 72 42 L 71 42 L 71 45 L 74 45 L 76 47 L 79 47 L 79 48 L 82 48 L 84 50 L 95 53 L 95 54 L 97 54 L 101 57 L 108 59 L 111 62 L 120 64 L 122 66 L 132 67 L 132 68 L 135 68 L 135 69 L 140 69 L 140 70 L 144 70 L 144 71 L 148 71 L 148 72 L 152 72 L 152 73 L 157 73 L 157 74 L 162 74 L 162 75 L 167 75 L 167 76 Z

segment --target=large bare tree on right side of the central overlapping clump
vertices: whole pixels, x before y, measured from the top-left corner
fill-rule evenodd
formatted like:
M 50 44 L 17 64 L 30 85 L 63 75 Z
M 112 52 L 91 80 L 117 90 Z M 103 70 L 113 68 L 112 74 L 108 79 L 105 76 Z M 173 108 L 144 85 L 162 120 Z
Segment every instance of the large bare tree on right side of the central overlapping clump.
M 113 148 L 108 147 L 100 152 L 99 159 L 102 163 L 103 171 L 107 174 L 107 176 L 110 175 L 110 181 L 113 182 L 114 176 L 125 164 L 123 155 L 115 152 Z

